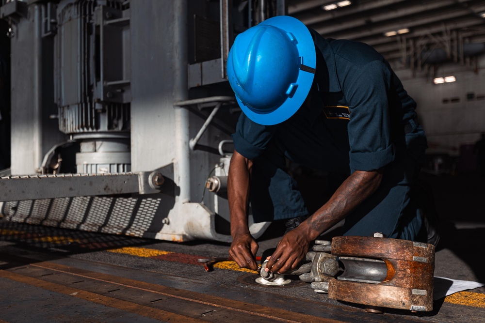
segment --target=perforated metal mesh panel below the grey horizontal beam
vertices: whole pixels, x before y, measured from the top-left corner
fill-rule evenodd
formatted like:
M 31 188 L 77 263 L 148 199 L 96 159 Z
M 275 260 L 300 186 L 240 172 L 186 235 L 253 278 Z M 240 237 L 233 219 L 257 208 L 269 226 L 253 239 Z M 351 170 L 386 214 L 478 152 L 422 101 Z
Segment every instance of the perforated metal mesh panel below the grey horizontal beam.
M 162 217 L 160 204 L 161 199 L 144 197 L 74 197 L 9 201 L 2 213 L 12 222 L 147 237 L 163 226 L 154 223 Z

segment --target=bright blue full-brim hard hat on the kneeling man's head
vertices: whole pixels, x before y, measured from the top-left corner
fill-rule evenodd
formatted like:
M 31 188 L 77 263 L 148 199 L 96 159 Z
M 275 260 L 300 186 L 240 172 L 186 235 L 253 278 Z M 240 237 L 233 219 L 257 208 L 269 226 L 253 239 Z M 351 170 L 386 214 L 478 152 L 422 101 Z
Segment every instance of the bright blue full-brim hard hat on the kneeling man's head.
M 271 125 L 290 118 L 313 82 L 315 46 L 307 27 L 275 16 L 239 34 L 227 57 L 227 78 L 242 112 Z

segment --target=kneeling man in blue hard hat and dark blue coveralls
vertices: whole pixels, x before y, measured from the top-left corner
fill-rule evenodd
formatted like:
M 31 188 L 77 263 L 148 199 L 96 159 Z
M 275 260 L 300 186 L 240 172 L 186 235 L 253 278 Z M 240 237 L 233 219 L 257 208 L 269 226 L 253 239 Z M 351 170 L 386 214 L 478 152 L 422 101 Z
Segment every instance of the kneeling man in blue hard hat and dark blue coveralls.
M 256 222 L 309 216 L 279 242 L 266 266 L 272 272 L 294 269 L 344 218 L 345 235 L 420 239 L 423 220 L 409 196 L 426 137 L 416 103 L 380 54 L 277 16 L 237 36 L 227 76 L 243 112 L 228 176 L 229 254 L 239 266 L 257 270 L 250 203 Z M 350 175 L 310 215 L 286 158 Z

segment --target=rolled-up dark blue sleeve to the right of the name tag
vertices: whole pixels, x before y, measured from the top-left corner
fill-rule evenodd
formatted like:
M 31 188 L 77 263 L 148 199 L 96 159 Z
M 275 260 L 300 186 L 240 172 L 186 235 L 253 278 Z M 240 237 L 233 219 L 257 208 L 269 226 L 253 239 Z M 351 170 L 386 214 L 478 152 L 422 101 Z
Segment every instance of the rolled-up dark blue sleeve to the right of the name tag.
M 349 74 L 343 91 L 349 102 L 350 168 L 371 171 L 394 160 L 388 89 L 390 71 L 372 61 Z

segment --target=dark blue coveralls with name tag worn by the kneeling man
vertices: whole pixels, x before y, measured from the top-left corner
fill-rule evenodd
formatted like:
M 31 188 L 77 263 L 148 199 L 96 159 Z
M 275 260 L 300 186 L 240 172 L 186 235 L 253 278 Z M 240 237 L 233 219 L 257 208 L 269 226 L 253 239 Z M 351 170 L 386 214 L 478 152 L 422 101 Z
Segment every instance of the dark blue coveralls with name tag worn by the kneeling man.
M 346 217 L 345 235 L 422 235 L 410 189 L 427 147 L 416 102 L 388 62 L 363 43 L 312 33 L 317 66 L 310 107 L 265 126 L 243 113 L 232 135 L 238 153 L 253 160 L 251 207 L 256 222 L 308 215 L 286 158 L 313 169 L 352 173 L 383 168 L 379 188 Z M 420 233 L 421 232 L 421 233 Z

